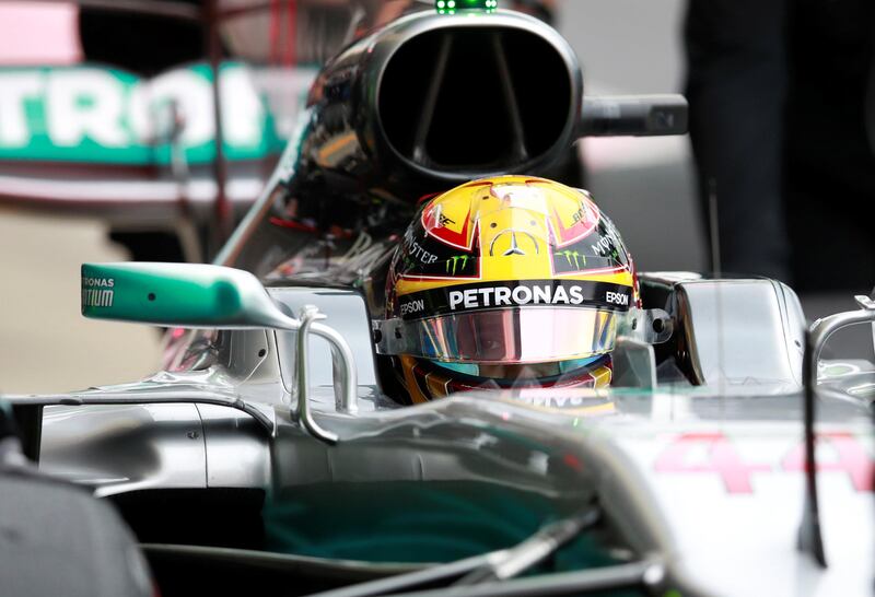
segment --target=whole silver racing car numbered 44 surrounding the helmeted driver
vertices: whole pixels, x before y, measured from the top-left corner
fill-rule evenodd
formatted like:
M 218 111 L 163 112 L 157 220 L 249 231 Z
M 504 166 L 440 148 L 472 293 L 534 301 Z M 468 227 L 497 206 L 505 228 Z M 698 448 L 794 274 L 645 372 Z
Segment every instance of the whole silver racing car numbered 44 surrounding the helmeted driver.
M 868 297 L 809 329 L 780 282 L 645 272 L 609 388 L 394 399 L 383 289 L 420 197 L 686 127 L 457 4 L 329 61 L 215 265 L 83 266 L 83 314 L 171 328 L 163 368 L 5 396 L 27 453 L 115 503 L 165 596 L 870 594 L 875 365 L 819 360 Z

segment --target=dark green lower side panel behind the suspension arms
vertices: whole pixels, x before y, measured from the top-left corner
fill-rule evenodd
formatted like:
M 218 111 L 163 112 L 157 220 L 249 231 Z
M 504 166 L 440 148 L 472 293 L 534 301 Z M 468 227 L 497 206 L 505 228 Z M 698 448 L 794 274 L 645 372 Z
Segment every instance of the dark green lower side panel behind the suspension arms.
M 451 562 L 516 545 L 580 507 L 480 481 L 317 483 L 269 495 L 267 549 L 370 562 Z M 594 532 L 584 532 L 533 572 L 615 564 Z

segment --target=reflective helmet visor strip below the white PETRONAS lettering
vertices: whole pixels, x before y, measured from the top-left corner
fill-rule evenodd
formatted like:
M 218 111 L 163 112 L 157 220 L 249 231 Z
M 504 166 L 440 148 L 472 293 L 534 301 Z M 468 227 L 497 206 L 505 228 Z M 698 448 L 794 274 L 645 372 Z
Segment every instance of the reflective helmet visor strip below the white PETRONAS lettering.
M 600 307 L 517 307 L 404 323 L 404 352 L 448 363 L 585 359 L 614 349 L 618 314 Z

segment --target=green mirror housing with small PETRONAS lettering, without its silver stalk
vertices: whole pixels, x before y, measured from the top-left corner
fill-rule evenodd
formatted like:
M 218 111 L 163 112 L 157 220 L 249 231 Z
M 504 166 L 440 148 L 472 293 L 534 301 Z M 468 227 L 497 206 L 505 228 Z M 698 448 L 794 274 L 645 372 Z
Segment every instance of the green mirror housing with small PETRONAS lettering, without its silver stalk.
M 221 274 L 168 264 L 82 265 L 82 315 L 156 325 L 217 326 L 241 314 L 237 286 Z

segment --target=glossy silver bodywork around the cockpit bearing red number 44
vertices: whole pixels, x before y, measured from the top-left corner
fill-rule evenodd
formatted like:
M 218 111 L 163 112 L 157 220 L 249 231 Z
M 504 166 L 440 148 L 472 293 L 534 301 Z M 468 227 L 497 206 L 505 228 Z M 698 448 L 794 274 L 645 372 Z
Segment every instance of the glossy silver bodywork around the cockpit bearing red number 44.
M 509 390 L 398 408 L 381 395 L 360 295 L 275 288 L 271 296 L 292 313 L 320 304 L 354 348 L 355 414 L 337 411 L 327 342 L 315 340 L 310 349 L 315 417 L 338 435 L 337 445 L 314 438 L 298 420 L 294 333 L 246 330 L 228 332 L 225 352 L 198 370 L 67 397 L 125 396 L 140 405 L 47 408 L 40 466 L 94 487 L 97 495 L 399 480 L 481 480 L 555 497 L 592 488 L 632 550 L 660 563 L 654 587 L 700 595 L 867 594 L 875 445 L 865 399 L 852 397 L 873 382 L 875 367 L 832 364 L 824 379 L 847 398 L 822 399 L 818 419 L 830 560 L 821 570 L 795 547 L 804 501 L 804 320 L 795 294 L 768 280 L 650 280 L 686 301 L 688 319 L 679 318 L 676 332 L 695 340 L 690 358 L 705 372 L 704 385 Z M 709 302 L 719 315 L 705 308 Z M 751 363 L 768 365 L 769 377 L 745 375 L 758 371 Z M 257 405 L 264 420 L 198 403 L 208 395 Z M 174 397 L 180 402 L 150 403 Z

